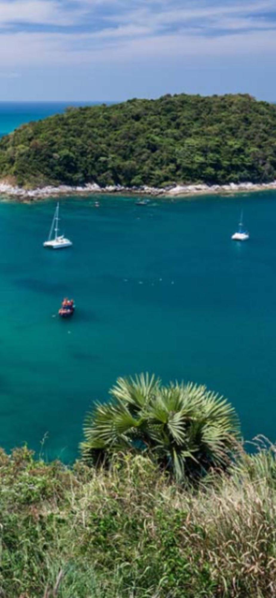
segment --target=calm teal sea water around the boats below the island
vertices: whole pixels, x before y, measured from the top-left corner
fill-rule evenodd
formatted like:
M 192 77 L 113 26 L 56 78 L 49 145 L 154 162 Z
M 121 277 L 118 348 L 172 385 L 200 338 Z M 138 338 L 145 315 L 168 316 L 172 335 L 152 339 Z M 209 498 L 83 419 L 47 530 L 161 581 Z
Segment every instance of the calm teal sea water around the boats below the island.
M 274 441 L 276 193 L 95 199 L 60 202 L 73 248 L 57 252 L 42 247 L 55 202 L 0 203 L 1 446 L 39 450 L 48 433 L 48 458 L 73 459 L 93 401 L 146 370 L 223 393 L 244 437 Z M 241 206 L 244 244 L 230 240 Z

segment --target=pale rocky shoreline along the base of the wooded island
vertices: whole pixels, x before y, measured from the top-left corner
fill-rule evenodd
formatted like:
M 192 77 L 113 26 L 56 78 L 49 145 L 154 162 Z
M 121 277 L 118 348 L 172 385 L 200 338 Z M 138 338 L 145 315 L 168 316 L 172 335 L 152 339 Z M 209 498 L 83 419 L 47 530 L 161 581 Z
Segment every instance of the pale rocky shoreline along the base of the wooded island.
M 59 187 L 36 188 L 26 190 L 22 187 L 15 187 L 5 181 L 0 182 L 1 196 L 10 197 L 22 201 L 32 201 L 38 199 L 47 199 L 49 197 L 69 196 L 69 195 L 90 195 L 90 194 L 136 194 L 154 197 L 189 197 L 194 195 L 207 194 L 228 194 L 238 193 L 239 191 L 268 191 L 276 190 L 276 181 L 269 183 L 254 184 L 251 182 L 229 183 L 227 185 L 175 185 L 164 188 L 148 187 L 122 187 L 122 185 L 109 185 L 108 187 L 99 187 L 96 183 L 88 183 L 83 187 L 70 187 L 69 185 L 59 185 Z

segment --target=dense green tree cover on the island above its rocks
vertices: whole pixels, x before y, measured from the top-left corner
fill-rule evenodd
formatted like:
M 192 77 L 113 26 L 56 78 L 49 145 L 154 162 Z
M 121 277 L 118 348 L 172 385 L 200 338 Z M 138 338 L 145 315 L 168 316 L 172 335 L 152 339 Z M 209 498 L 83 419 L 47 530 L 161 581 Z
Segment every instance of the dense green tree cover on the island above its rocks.
M 276 106 L 180 94 L 71 108 L 2 138 L 0 176 L 31 187 L 272 181 Z

